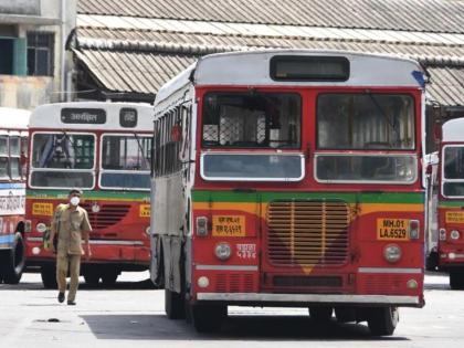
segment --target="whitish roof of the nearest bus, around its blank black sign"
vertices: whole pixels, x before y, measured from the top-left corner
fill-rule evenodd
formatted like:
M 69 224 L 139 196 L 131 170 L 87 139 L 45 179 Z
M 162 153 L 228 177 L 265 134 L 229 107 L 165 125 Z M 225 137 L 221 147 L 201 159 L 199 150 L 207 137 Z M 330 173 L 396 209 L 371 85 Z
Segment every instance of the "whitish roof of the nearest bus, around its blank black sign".
M 275 56 L 345 57 L 349 61 L 347 81 L 275 81 L 271 60 Z M 254 50 L 204 55 L 162 86 L 155 104 L 182 88 L 193 72 L 196 85 L 241 86 L 391 86 L 423 88 L 422 66 L 413 60 L 393 55 L 336 50 Z M 419 75 L 419 76 L 418 76 Z

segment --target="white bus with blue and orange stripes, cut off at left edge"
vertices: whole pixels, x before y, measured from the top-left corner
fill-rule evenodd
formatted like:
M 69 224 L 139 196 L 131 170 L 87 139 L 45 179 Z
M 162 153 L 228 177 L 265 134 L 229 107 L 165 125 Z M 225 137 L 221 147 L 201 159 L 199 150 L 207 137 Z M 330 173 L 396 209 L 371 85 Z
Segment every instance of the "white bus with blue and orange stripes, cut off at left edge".
M 0 283 L 24 268 L 25 154 L 31 112 L 0 107 Z

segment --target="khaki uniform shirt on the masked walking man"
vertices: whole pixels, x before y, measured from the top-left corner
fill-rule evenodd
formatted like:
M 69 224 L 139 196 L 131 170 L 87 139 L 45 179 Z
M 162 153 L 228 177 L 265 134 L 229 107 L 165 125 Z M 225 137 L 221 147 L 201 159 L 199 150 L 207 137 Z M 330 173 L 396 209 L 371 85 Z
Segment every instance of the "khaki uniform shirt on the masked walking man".
M 77 205 L 71 211 L 70 204 L 59 207 L 53 219 L 57 233 L 57 256 L 82 255 L 82 233 L 91 232 L 87 211 Z

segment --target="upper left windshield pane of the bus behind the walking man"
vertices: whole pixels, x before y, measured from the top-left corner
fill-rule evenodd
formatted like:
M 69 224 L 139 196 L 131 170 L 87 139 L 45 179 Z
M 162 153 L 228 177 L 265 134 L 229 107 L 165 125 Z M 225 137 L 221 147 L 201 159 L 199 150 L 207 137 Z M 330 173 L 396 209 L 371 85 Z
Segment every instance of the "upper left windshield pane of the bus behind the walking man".
M 95 137 L 87 134 L 34 134 L 32 167 L 55 169 L 94 168 Z

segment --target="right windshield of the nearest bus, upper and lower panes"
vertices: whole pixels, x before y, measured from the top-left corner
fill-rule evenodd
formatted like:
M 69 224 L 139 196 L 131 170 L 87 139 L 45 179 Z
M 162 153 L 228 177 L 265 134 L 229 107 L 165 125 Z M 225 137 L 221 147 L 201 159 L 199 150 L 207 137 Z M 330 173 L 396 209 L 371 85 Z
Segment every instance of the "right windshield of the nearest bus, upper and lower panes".
M 321 181 L 415 181 L 416 156 L 386 154 L 415 148 L 411 95 L 324 93 L 317 97 L 316 178 Z M 382 151 L 368 156 L 346 150 Z

